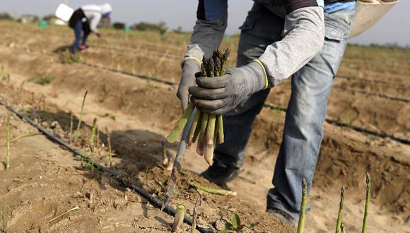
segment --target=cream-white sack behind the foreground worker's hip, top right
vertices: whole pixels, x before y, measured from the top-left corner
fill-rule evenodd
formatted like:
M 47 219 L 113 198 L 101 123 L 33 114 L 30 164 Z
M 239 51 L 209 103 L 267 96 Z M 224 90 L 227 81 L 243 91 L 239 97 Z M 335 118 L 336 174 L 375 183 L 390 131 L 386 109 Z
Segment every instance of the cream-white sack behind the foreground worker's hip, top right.
M 357 1 L 356 16 L 351 27 L 350 37 L 361 35 L 365 30 L 371 28 L 398 2 L 399 0 L 382 3 Z

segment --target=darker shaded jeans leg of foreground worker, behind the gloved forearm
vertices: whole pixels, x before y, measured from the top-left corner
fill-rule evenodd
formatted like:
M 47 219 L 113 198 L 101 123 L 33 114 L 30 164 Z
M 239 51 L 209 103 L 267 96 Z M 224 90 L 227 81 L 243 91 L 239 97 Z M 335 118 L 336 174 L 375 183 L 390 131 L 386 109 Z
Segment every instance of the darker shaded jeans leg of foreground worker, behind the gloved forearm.
M 237 66 L 245 66 L 259 58 L 266 47 L 281 39 L 283 19 L 274 16 L 261 4 L 254 3 L 245 23 L 240 27 Z M 238 107 L 223 114 L 225 142 L 215 148 L 214 160 L 241 167 L 245 160 L 252 124 L 261 111 L 269 90 L 261 90 L 242 101 Z

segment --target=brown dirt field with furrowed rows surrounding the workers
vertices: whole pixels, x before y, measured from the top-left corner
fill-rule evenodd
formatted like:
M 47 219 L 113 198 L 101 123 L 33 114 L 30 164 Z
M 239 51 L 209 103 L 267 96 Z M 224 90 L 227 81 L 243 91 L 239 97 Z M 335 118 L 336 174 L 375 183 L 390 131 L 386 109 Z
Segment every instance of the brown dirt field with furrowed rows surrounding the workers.
M 159 166 L 161 142 L 180 117 L 173 83 L 180 78 L 180 59 L 189 35 L 124 35 L 122 31 L 103 30 L 105 41 L 91 36 L 92 47 L 81 54 L 81 63 L 62 64 L 58 52 L 71 44 L 69 28 L 40 30 L 35 25 L 6 22 L 0 22 L 0 28 L 4 28 L 0 35 L 1 76 L 10 76 L 0 81 L 1 101 L 13 104 L 66 140 L 70 114 L 74 114 L 76 126 L 83 94 L 88 90 L 82 135 L 89 136 L 97 117 L 102 143 L 107 145 L 105 127 L 112 132 L 113 168 L 133 184 L 163 198 L 170 172 Z M 237 43 L 238 38 L 233 37 L 223 42 L 223 47 L 235 50 Z M 230 63 L 235 64 L 235 56 Z M 44 77 L 51 77 L 50 82 L 37 84 Z M 410 140 L 409 77 L 409 50 L 346 49 L 328 109 L 329 122 L 346 127 L 324 125 L 320 161 L 309 196 L 312 210 L 307 215 L 307 232 L 334 231 L 342 185 L 346 186 L 347 232 L 361 230 L 367 171 L 373 178 L 368 232 L 410 232 L 410 145 L 357 130 Z M 289 81 L 274 88 L 269 104 L 286 108 L 290 91 Z M 6 109 L 0 107 L 0 121 L 5 115 Z M 12 116 L 11 138 L 36 132 Z M 212 186 L 197 176 L 206 169 L 206 162 L 190 150 L 185 156 L 187 174 L 182 176 L 171 205 L 185 203 L 192 208 L 200 194 L 201 225 L 216 222 L 220 215 L 227 218 L 237 213 L 246 223 L 260 222 L 254 232 L 295 232 L 264 213 L 283 121 L 284 112 L 269 107 L 257 117 L 245 167 L 239 179 L 228 184 L 238 192 L 237 197 L 198 193 L 190 188 L 187 181 L 192 180 Z M 4 123 L 0 132 L 5 132 Z M 0 142 L 3 162 L 4 133 L 0 133 Z M 86 140 L 72 143 L 88 150 Z M 176 145 L 170 147 L 175 150 Z M 87 153 L 96 162 L 109 165 L 106 147 Z M 4 209 L 0 219 L 6 218 L 9 232 L 170 231 L 172 217 L 115 179 L 90 170 L 45 136 L 13 142 L 11 169 L 0 165 L 0 173 L 0 210 Z M 76 206 L 78 210 L 45 223 Z

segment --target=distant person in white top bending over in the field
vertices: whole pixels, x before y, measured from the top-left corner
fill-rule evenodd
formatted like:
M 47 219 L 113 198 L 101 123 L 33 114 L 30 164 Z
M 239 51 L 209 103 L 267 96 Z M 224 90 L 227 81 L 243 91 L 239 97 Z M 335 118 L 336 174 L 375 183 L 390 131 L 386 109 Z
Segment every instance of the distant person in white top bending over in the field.
M 81 8 L 74 11 L 69 20 L 69 26 L 74 29 L 74 35 L 76 35 L 76 40 L 74 40 L 73 47 L 71 47 L 71 54 L 75 54 L 77 49 L 87 49 L 86 42 L 90 32 L 94 32 L 98 37 L 101 36 L 97 29 L 98 23 L 100 23 L 102 18 L 110 20 L 111 12 L 112 6 L 110 4 L 90 4 L 81 6 Z M 83 32 L 83 40 L 80 46 L 81 32 Z

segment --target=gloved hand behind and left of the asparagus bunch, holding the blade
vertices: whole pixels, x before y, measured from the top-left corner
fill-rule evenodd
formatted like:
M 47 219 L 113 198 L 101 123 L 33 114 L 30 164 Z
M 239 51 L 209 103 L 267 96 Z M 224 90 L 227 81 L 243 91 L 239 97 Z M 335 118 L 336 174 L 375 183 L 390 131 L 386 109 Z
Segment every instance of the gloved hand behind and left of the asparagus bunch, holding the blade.
M 195 85 L 195 73 L 201 71 L 201 65 L 196 59 L 186 59 L 182 68 L 182 78 L 178 86 L 177 97 L 181 100 L 182 111 L 184 111 L 189 102 L 188 88 Z

